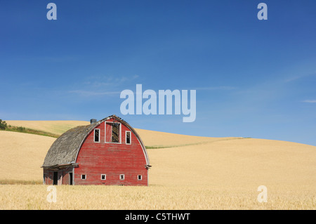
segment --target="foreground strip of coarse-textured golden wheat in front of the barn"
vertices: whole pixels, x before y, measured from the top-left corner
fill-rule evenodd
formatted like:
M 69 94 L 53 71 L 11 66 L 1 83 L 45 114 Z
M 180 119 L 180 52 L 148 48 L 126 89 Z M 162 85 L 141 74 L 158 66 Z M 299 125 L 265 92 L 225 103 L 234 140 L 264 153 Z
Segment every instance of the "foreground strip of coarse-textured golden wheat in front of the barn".
M 212 187 L 56 186 L 56 202 L 45 185 L 0 185 L 0 209 L 315 209 L 309 190 L 268 188 L 268 202 L 256 189 Z

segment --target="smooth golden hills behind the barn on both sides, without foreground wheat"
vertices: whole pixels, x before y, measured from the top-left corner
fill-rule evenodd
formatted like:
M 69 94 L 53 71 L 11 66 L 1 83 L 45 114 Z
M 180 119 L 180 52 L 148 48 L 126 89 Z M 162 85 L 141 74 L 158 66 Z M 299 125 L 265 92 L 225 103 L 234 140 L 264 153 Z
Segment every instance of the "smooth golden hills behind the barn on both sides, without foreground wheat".
M 86 121 L 8 121 L 61 133 Z M 44 125 L 45 124 L 45 125 Z M 316 187 L 316 147 L 278 140 L 209 138 L 136 129 L 148 149 L 152 185 Z M 41 180 L 40 166 L 55 138 L 0 131 L 0 179 Z

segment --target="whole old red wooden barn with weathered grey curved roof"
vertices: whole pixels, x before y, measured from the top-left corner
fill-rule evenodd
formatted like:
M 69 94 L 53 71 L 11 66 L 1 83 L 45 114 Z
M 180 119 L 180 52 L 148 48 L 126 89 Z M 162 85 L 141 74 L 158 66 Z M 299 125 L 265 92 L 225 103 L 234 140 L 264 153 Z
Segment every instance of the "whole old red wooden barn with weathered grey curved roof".
M 148 185 L 150 162 L 138 133 L 112 115 L 63 133 L 41 167 L 47 185 Z

